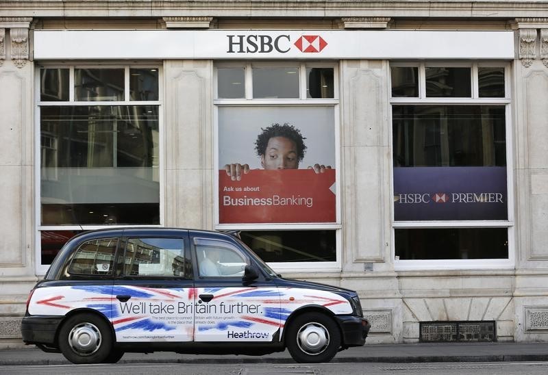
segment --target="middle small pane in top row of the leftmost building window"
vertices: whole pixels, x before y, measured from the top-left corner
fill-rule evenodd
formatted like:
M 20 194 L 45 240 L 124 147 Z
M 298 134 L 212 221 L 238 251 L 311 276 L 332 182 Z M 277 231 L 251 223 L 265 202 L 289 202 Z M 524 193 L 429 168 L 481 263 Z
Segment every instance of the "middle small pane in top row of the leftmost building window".
M 123 69 L 74 70 L 75 101 L 123 101 Z

